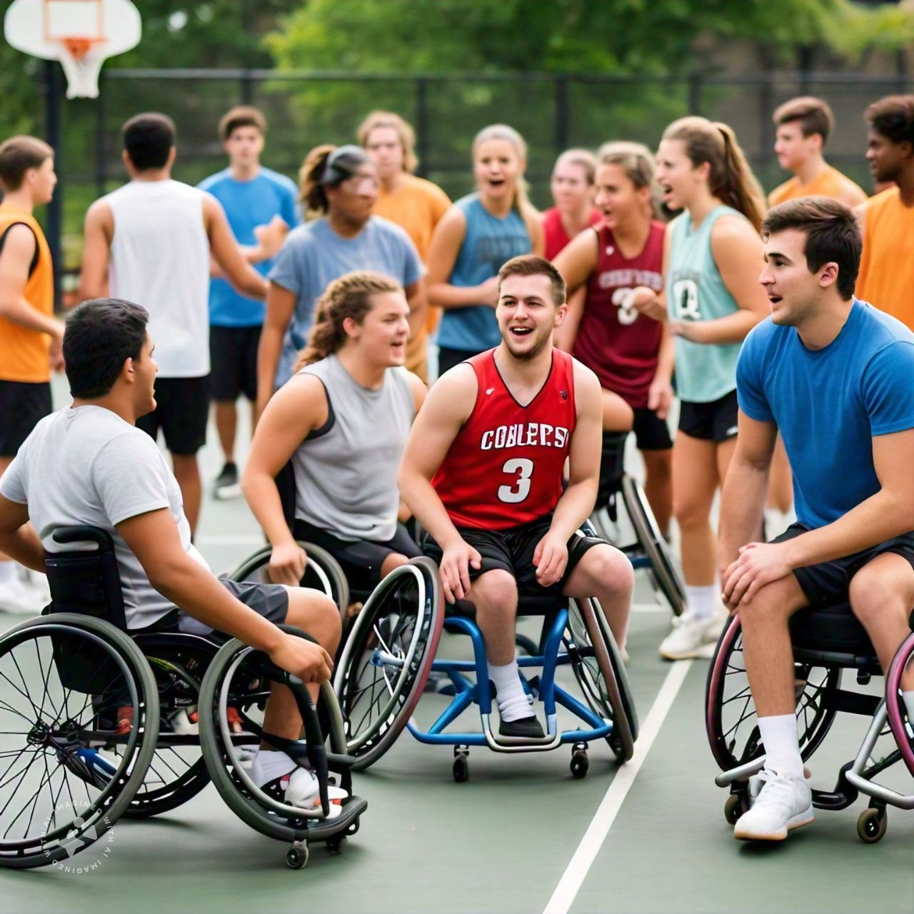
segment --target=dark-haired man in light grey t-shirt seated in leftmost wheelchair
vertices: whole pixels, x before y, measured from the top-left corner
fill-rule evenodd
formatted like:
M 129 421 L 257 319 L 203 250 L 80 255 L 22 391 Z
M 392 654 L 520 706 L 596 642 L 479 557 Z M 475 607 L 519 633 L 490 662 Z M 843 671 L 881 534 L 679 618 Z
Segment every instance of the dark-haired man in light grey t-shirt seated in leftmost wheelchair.
M 192 545 L 175 477 L 134 425 L 155 409 L 147 321 L 144 308 L 120 299 L 84 302 L 69 315 L 63 354 L 73 404 L 37 423 L 0 478 L 0 549 L 44 571 L 44 550 L 60 550 L 57 527 L 101 527 L 114 541 L 131 632 L 234 635 L 310 684 L 316 700 L 333 667 L 339 611 L 315 590 L 220 581 Z M 282 632 L 278 622 L 319 643 Z M 286 686 L 273 687 L 263 728 L 299 739 L 302 720 Z M 317 796 L 312 772 L 265 743 L 251 777 L 293 805 Z

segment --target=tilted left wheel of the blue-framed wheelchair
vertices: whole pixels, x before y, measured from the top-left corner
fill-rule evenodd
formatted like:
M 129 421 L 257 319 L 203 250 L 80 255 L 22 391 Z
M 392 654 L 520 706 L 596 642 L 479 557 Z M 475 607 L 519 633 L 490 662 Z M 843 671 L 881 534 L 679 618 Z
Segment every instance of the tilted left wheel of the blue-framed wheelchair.
M 409 722 L 442 625 L 438 569 L 430 558 L 394 569 L 359 612 L 334 674 L 354 770 L 380 759 Z

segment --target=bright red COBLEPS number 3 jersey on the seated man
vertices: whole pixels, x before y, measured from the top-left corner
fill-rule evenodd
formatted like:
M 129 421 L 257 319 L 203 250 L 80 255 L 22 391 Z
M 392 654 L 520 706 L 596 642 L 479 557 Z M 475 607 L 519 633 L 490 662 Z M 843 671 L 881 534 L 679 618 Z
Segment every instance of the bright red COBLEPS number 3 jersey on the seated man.
M 554 349 L 546 383 L 521 406 L 498 374 L 494 352 L 468 360 L 476 403 L 431 479 L 454 526 L 526 524 L 551 514 L 562 494 L 577 418 L 574 359 Z

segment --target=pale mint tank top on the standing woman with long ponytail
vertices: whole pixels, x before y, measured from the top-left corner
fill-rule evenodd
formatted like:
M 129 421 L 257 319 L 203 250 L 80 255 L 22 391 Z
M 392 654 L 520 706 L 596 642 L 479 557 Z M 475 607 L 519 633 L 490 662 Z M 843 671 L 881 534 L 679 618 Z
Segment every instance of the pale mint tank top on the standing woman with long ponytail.
M 695 231 L 686 210 L 669 227 L 670 261 L 666 307 L 671 321 L 713 321 L 739 311 L 711 253 L 711 229 L 721 216 L 745 218 L 732 207 L 715 207 Z M 710 403 L 737 387 L 741 343 L 693 343 L 675 338 L 676 393 L 690 403 Z

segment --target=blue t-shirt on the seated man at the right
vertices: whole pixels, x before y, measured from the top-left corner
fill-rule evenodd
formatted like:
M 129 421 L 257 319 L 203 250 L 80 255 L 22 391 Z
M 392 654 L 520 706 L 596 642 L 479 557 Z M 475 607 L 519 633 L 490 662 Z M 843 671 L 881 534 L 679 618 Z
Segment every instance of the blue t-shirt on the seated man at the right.
M 914 428 L 914 334 L 856 299 L 822 349 L 769 317 L 743 343 L 737 397 L 749 419 L 781 430 L 797 520 L 831 524 L 879 491 L 871 439 Z

